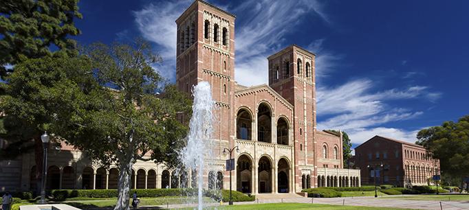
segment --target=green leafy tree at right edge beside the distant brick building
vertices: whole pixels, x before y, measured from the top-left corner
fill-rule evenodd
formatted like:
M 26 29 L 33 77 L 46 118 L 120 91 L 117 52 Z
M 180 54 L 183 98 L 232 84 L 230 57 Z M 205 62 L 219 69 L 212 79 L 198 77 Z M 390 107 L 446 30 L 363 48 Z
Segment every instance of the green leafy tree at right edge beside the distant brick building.
M 439 159 L 444 174 L 452 178 L 469 176 L 469 115 L 420 130 L 417 139 L 417 144 Z

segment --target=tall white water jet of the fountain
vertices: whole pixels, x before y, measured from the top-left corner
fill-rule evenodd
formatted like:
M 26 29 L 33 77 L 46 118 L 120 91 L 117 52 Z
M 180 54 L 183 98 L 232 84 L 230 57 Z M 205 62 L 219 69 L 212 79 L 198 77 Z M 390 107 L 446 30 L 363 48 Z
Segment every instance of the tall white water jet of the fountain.
M 180 152 L 180 159 L 188 170 L 197 170 L 197 200 L 198 209 L 203 209 L 203 187 L 204 187 L 204 158 L 211 156 L 213 115 L 212 108 L 215 102 L 212 100 L 210 84 L 199 82 L 193 89 L 193 113 L 189 123 L 189 135 L 186 147 Z M 206 169 L 205 169 L 206 170 Z

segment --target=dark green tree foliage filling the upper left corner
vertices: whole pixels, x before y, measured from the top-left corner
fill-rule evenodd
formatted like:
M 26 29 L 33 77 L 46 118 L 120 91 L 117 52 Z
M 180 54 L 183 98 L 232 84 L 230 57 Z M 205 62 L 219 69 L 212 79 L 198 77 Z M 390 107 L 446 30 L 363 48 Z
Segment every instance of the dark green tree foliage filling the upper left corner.
M 74 19 L 81 19 L 78 0 L 3 0 L 0 1 L 0 76 L 25 58 L 52 56 L 50 47 L 61 49 L 58 54 L 76 54 L 76 42 L 69 38 L 80 31 Z

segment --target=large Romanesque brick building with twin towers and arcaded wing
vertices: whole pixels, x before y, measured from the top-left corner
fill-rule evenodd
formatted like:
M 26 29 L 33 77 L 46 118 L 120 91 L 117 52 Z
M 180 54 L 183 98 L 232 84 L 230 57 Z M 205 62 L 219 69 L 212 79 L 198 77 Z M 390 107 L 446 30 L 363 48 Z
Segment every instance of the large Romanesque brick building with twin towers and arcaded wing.
M 234 80 L 235 15 L 196 0 L 176 24 L 178 89 L 190 95 L 194 85 L 206 81 L 215 100 L 215 148 L 207 157 L 204 187 L 229 188 L 228 154 L 223 149 L 235 146 L 239 152 L 233 154 L 236 168 L 231 173 L 237 191 L 279 194 L 360 185 L 360 170 L 343 168 L 342 136 L 316 129 L 315 54 L 297 45 L 285 47 L 267 58 L 269 84 L 241 86 Z M 68 145 L 53 148 L 49 156 L 49 189 L 117 187 L 118 169 L 113 165 L 106 169 L 92 164 Z M 1 164 L 8 166 L 1 169 L 7 173 L 0 173 L 12 180 L 8 188 L 29 190 L 37 185 L 34 154 Z M 195 187 L 194 173 L 137 161 L 131 187 Z M 6 183 L 1 181 L 1 186 Z

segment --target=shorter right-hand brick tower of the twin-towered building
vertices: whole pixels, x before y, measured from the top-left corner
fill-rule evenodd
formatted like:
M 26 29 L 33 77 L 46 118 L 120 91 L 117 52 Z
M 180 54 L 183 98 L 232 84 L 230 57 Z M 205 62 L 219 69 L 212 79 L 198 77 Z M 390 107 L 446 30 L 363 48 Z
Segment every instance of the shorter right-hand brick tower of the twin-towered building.
M 294 106 L 296 189 L 314 187 L 316 180 L 314 58 L 313 53 L 297 45 L 286 47 L 268 57 L 269 86 Z M 301 183 L 305 186 L 301 186 Z

